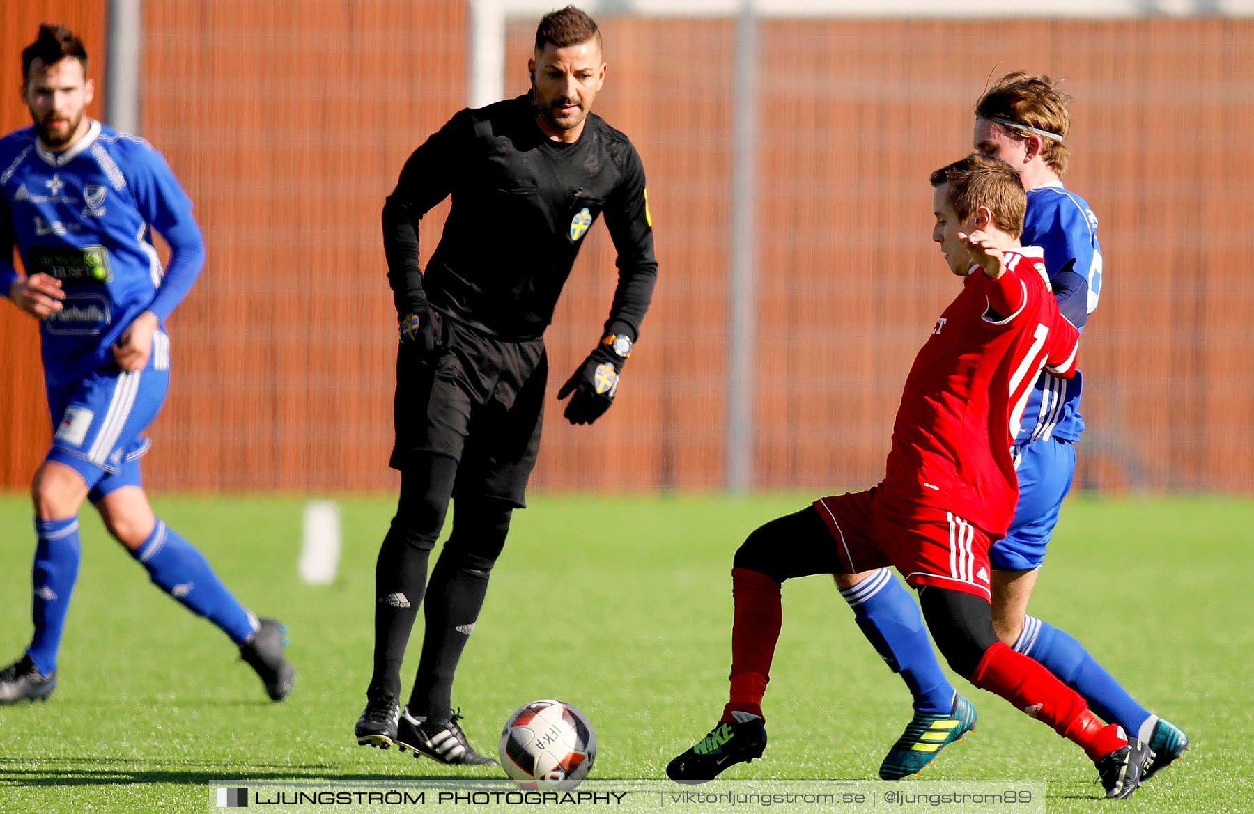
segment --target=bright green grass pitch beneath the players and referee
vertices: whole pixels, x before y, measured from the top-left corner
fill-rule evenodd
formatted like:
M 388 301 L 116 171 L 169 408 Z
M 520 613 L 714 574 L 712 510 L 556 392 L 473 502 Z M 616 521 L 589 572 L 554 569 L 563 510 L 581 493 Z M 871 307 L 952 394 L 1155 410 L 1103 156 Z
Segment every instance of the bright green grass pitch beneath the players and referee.
M 756 524 L 805 500 L 534 495 L 515 514 L 454 687 L 472 741 L 494 751 L 514 707 L 559 697 L 597 730 L 594 776 L 662 778 L 725 699 L 732 552 Z M 341 503 L 344 557 L 329 587 L 296 577 L 301 500 L 157 495 L 154 504 L 246 605 L 291 627 L 295 691 L 268 702 L 227 638 L 152 587 L 84 512 L 60 685 L 48 704 L 0 707 L 0 810 L 206 810 L 214 779 L 458 774 L 359 748 L 351 734 L 370 674 L 374 563 L 390 500 Z M 979 729 L 923 780 L 1041 779 L 1050 811 L 1254 810 L 1251 528 L 1248 499 L 1072 499 L 1037 586 L 1036 615 L 1076 635 L 1189 732 L 1194 749 L 1181 764 L 1127 803 L 1100 800 L 1078 749 L 956 680 L 979 709 Z M 30 632 L 24 498 L 0 498 L 0 529 L 8 662 Z M 416 635 L 410 655 L 406 691 Z M 826 578 L 785 586 L 766 710 L 765 759 L 729 776 L 872 779 L 908 719 L 904 686 Z

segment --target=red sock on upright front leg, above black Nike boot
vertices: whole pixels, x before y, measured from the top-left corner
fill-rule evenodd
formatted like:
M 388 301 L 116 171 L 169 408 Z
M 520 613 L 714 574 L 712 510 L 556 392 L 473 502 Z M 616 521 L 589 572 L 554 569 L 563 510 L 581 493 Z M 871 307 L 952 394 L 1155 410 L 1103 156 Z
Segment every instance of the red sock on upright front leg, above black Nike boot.
M 736 610 L 731 625 L 731 712 L 762 715 L 762 695 L 770 681 L 771 658 L 780 637 L 780 583 L 749 568 L 731 569 L 731 596 Z M 765 717 L 765 716 L 764 716 Z

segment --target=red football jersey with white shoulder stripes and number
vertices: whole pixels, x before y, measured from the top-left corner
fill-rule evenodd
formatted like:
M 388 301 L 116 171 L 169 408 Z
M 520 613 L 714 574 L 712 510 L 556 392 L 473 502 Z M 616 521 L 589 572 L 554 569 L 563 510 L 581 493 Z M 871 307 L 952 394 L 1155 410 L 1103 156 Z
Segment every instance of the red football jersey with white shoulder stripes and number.
M 1032 383 L 1041 367 L 1075 375 L 1080 340 L 1058 312 L 1040 248 L 1007 252 L 1006 267 L 994 282 L 973 266 L 914 359 L 883 484 L 994 538 L 1006 534 L 1018 502 L 1011 444 Z M 989 302 L 1002 297 L 1018 306 L 1013 314 L 993 311 Z

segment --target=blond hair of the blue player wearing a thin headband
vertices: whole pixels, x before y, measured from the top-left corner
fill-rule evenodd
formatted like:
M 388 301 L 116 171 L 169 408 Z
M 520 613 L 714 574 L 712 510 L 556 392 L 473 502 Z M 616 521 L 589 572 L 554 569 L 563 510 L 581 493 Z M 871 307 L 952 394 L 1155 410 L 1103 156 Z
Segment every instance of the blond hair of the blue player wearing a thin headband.
M 1008 137 L 1021 142 L 1031 138 L 1032 132 L 1013 124 L 1056 135 L 1041 138 L 1041 158 L 1061 176 L 1071 162 L 1071 148 L 1066 144 L 1071 130 L 1067 105 L 1073 99 L 1058 89 L 1060 84 L 1061 80 L 1046 74 L 1035 77 L 1023 70 L 1006 74 L 976 103 L 976 117 L 996 122 Z

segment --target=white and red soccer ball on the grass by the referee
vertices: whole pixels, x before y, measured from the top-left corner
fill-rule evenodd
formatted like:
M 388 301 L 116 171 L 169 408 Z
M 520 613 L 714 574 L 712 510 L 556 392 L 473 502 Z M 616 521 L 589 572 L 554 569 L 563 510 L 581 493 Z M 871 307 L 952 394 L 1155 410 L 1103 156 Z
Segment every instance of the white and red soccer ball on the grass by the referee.
M 505 721 L 497 751 L 505 774 L 522 788 L 568 791 L 592 770 L 597 736 L 569 704 L 532 701 Z

